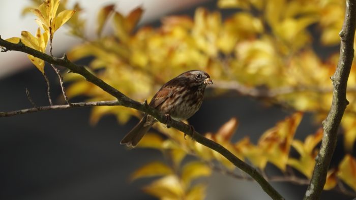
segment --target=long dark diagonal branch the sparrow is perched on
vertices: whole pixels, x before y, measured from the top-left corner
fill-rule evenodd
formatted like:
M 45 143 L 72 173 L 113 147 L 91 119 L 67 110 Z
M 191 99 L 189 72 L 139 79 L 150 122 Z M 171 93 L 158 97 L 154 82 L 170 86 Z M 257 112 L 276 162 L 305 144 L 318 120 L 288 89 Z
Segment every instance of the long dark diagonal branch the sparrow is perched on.
M 271 196 L 273 199 L 284 199 L 271 185 L 268 181 L 266 181 L 261 174 L 259 174 L 256 169 L 254 169 L 252 166 L 249 164 L 245 163 L 238 157 L 236 157 L 234 154 L 232 154 L 230 151 L 228 151 L 226 148 L 221 146 L 220 144 L 209 140 L 205 138 L 204 136 L 200 135 L 198 132 L 192 130 L 192 128 L 183 123 L 183 122 L 178 122 L 175 120 L 166 120 L 166 116 L 156 109 L 150 107 L 147 105 L 146 102 L 144 103 L 139 103 L 131 98 L 127 97 L 125 94 L 122 92 L 118 91 L 117 89 L 113 88 L 112 86 L 108 85 L 105 83 L 103 80 L 99 79 L 89 71 L 87 71 L 84 66 L 79 66 L 76 65 L 72 62 L 70 62 L 67 58 L 66 55 L 63 56 L 63 58 L 56 58 L 49 56 L 45 53 L 42 53 L 40 51 L 37 51 L 35 49 L 29 48 L 23 44 L 14 44 L 10 43 L 8 41 L 5 41 L 1 39 L 0 37 L 0 46 L 2 46 L 4 51 L 21 51 L 27 54 L 31 54 L 35 57 L 38 57 L 40 59 L 43 59 L 49 63 L 56 64 L 56 65 L 61 65 L 64 66 L 65 68 L 69 69 L 73 73 L 77 73 L 82 75 L 87 81 L 92 82 L 93 84 L 99 86 L 101 89 L 106 91 L 107 93 L 111 94 L 112 96 L 117 98 L 117 104 L 120 104 L 121 106 L 133 108 L 139 111 L 142 111 L 144 113 L 150 114 L 154 116 L 158 121 L 161 123 L 165 123 L 168 126 L 171 126 L 173 128 L 176 128 L 177 130 L 180 130 L 184 132 L 186 135 L 192 137 L 196 142 L 211 148 L 217 152 L 219 152 L 221 155 L 223 155 L 226 159 L 228 159 L 231 163 L 233 163 L 235 166 L 246 172 L 248 175 L 250 175 L 254 180 L 257 181 L 257 183 L 262 187 L 262 189 Z M 69 106 L 69 105 L 68 105 Z

